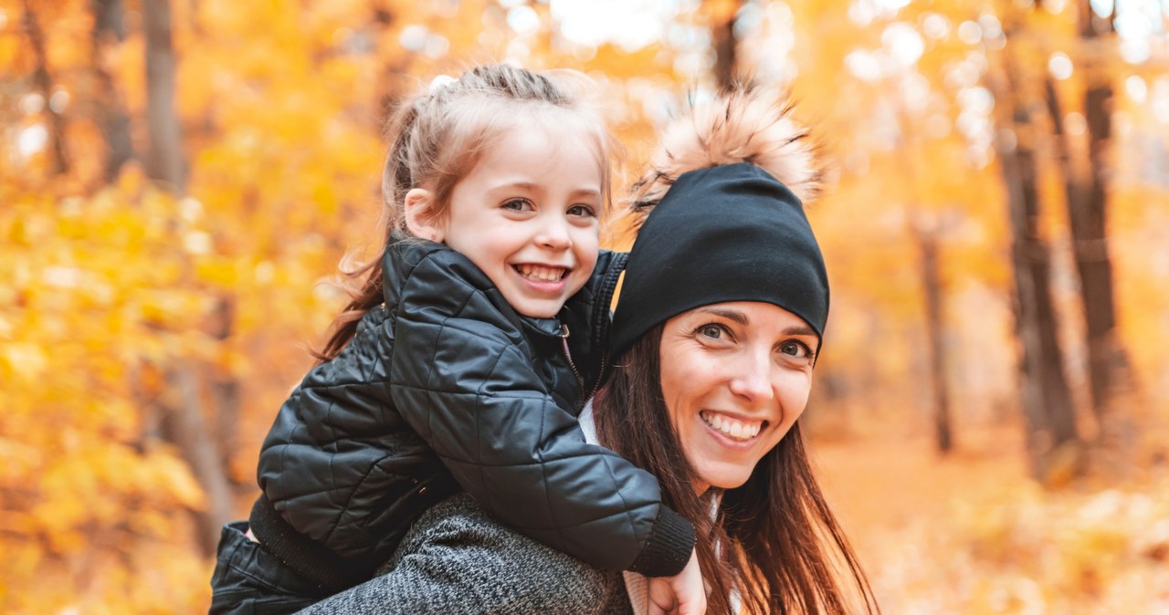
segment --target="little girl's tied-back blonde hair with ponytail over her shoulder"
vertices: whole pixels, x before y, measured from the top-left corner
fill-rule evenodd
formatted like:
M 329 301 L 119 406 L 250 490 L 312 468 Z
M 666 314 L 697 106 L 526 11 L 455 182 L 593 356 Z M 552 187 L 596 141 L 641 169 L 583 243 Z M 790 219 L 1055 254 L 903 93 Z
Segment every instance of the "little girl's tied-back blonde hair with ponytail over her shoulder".
M 601 168 L 603 218 L 611 209 L 611 165 L 614 140 L 595 104 L 595 83 L 574 70 L 537 72 L 507 64 L 476 67 L 457 79 L 436 79 L 397 107 L 386 133 L 390 139 L 381 174 L 387 244 L 409 237 L 404 200 L 411 188 L 426 188 L 434 198 L 428 216 L 444 216 L 450 196 L 478 165 L 483 154 L 510 130 L 530 126 L 563 130 L 582 138 L 581 147 L 593 149 Z M 575 128 L 575 130 L 573 130 Z M 575 144 L 555 144 L 572 147 Z M 344 349 L 357 333 L 361 316 L 382 302 L 381 254 L 355 271 L 344 272 L 350 303 L 333 321 L 333 334 L 325 348 L 314 351 L 318 361 L 328 361 Z

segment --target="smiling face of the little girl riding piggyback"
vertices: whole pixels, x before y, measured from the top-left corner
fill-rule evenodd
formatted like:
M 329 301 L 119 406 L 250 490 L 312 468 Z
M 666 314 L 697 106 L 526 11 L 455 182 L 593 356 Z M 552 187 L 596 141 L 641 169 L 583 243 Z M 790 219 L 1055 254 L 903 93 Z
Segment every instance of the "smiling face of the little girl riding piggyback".
M 587 134 L 544 123 L 507 130 L 436 223 L 525 316 L 556 315 L 596 265 L 602 173 Z

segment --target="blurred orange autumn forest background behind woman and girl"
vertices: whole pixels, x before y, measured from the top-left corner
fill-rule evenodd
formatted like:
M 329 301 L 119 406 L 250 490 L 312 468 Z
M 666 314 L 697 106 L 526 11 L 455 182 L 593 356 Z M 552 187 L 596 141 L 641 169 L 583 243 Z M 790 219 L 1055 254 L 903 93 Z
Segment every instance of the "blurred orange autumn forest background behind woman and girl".
M 206 610 L 378 246 L 387 110 L 512 61 L 592 75 L 629 169 L 684 96 L 797 100 L 835 169 L 807 421 L 885 613 L 1169 613 L 1167 14 L 0 0 L 0 610 Z

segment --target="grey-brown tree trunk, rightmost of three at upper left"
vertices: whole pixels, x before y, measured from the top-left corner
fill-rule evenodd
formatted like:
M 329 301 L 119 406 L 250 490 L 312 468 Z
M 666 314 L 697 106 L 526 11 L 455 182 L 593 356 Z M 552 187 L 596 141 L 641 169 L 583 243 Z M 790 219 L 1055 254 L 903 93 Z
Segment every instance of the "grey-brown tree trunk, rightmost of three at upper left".
M 143 0 L 146 30 L 146 125 L 150 153 L 146 175 L 173 194 L 186 191 L 182 131 L 174 112 L 174 43 L 170 0 Z

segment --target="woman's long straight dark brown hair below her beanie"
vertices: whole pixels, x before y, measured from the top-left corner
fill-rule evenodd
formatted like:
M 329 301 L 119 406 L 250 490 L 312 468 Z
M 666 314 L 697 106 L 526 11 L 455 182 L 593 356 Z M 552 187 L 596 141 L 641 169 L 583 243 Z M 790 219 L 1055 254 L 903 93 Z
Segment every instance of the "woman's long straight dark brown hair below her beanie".
M 694 469 L 662 393 L 663 328 L 650 329 L 616 362 L 594 399 L 594 418 L 601 443 L 657 476 L 663 503 L 694 524 L 711 586 L 707 613 L 732 613 L 733 588 L 743 613 L 849 613 L 845 579 L 867 613 L 880 613 L 812 474 L 798 420 L 742 487 L 694 494 Z

